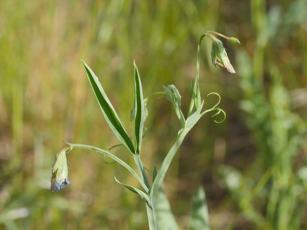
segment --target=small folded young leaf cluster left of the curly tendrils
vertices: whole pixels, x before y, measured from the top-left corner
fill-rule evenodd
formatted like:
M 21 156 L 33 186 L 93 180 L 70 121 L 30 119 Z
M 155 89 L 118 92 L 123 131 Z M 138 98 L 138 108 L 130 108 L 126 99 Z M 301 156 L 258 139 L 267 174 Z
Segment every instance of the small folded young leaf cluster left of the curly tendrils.
M 174 85 L 168 85 L 167 87 L 163 86 L 166 97 L 172 102 L 175 109 L 176 115 L 180 120 L 181 126 L 185 127 L 185 117 L 182 114 L 180 109 L 181 106 L 181 95 Z

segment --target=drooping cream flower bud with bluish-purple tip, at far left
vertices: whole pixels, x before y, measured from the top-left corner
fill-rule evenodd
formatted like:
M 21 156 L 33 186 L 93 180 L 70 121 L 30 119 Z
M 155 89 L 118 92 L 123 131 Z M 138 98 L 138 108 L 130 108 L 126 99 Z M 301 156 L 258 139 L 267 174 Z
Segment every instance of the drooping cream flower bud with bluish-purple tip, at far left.
M 64 148 L 56 154 L 56 158 L 52 166 L 52 177 L 50 186 L 50 190 L 52 192 L 64 189 L 65 186 L 69 184 L 67 178 L 68 167 L 66 159 L 66 150 L 67 148 Z

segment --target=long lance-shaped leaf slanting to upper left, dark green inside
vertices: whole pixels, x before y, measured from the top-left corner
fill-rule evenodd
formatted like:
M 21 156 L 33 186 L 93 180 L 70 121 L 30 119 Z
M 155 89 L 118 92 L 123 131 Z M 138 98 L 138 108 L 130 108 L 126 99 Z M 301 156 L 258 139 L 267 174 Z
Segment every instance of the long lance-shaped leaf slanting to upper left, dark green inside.
M 126 148 L 131 152 L 131 154 L 135 154 L 134 146 L 128 134 L 126 133 L 122 123 L 117 116 L 115 109 L 113 108 L 110 100 L 108 99 L 106 93 L 103 90 L 98 78 L 91 70 L 90 67 L 82 60 L 85 72 L 89 82 L 91 83 L 92 89 L 94 91 L 97 102 L 100 106 L 101 111 L 103 112 L 103 116 L 106 119 L 108 125 L 114 132 L 115 136 L 126 146 Z

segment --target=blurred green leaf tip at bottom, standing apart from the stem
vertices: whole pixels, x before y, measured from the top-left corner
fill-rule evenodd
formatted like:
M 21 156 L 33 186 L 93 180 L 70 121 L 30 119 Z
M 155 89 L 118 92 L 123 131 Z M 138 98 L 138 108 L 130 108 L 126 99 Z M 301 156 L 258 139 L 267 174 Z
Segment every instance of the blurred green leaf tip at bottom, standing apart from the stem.
M 192 197 L 190 229 L 210 229 L 207 200 L 203 187 L 198 188 Z

